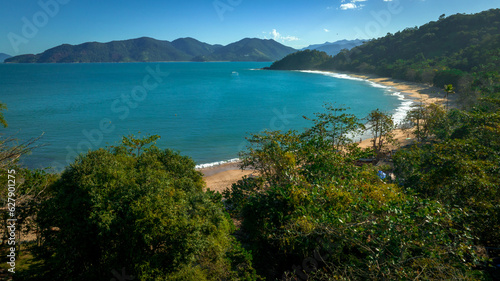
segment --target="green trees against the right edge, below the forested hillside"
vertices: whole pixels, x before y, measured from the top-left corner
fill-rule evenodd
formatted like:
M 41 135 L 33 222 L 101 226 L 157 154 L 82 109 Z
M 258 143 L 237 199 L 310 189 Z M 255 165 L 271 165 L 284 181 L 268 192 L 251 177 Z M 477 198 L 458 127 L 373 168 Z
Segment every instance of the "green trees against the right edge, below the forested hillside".
M 500 245 L 499 112 L 451 110 L 429 129 L 437 143 L 399 151 L 395 172 L 420 196 L 460 209 L 483 245 Z

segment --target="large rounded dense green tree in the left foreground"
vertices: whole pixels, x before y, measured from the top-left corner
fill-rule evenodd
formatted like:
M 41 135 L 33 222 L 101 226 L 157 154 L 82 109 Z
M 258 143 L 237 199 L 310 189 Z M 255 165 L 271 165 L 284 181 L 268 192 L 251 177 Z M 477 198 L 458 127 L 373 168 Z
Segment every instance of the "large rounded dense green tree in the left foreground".
M 51 187 L 37 218 L 46 278 L 109 280 L 125 268 L 139 280 L 256 279 L 194 161 L 155 146 L 132 153 L 156 138 L 80 156 Z

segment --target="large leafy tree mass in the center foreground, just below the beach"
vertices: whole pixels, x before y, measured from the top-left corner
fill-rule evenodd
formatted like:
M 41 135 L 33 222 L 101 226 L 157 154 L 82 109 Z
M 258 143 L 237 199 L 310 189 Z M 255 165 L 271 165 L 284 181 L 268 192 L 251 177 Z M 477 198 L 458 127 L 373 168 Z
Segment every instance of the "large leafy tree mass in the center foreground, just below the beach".
M 259 274 L 311 280 L 467 276 L 480 260 L 465 215 L 382 182 L 370 166 L 356 166 L 363 152 L 323 130 L 350 120 L 337 118 L 342 111 L 318 114 L 303 135 L 253 136 L 242 154 L 259 177 L 239 181 L 224 196 L 242 220 L 243 242 Z

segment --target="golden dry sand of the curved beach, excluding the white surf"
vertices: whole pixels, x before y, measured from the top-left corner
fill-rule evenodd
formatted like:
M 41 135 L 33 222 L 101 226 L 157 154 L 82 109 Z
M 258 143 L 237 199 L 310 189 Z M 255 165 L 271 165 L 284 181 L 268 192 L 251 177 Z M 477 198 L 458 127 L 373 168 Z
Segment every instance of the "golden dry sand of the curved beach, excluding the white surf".
M 429 85 L 400 81 L 391 78 L 377 77 L 374 75 L 349 75 L 361 79 L 366 79 L 368 81 L 384 86 L 393 87 L 395 91 L 401 92 L 401 94 L 403 94 L 405 97 L 410 97 L 423 104 L 444 104 L 446 102 L 444 91 L 442 89 Z M 450 104 L 453 103 L 453 100 L 451 100 L 451 98 L 452 97 L 450 96 Z M 400 129 L 395 130 L 394 133 L 400 145 L 407 145 L 413 141 L 411 135 L 408 135 Z M 371 139 L 365 139 L 360 142 L 360 147 L 369 147 L 371 145 Z M 206 188 L 219 192 L 224 191 L 226 188 L 230 187 L 231 184 L 237 182 L 243 176 L 254 173 L 254 171 L 251 170 L 240 170 L 238 163 L 226 163 L 210 168 L 199 169 L 199 171 L 201 171 L 204 175 Z

